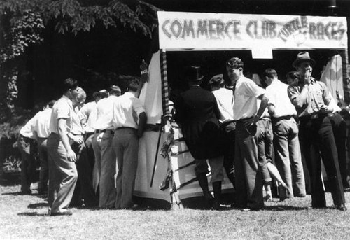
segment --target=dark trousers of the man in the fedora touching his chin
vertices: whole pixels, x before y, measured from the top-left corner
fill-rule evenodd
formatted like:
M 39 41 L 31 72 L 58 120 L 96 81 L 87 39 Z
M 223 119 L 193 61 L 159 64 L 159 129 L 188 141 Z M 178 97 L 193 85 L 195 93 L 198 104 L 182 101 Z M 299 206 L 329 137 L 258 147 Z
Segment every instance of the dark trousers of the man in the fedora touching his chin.
M 321 157 L 327 172 L 333 202 L 335 205 L 344 204 L 344 188 L 339 170 L 337 147 L 329 118 L 300 118 L 300 146 L 309 169 L 312 206 L 326 206 L 321 179 Z

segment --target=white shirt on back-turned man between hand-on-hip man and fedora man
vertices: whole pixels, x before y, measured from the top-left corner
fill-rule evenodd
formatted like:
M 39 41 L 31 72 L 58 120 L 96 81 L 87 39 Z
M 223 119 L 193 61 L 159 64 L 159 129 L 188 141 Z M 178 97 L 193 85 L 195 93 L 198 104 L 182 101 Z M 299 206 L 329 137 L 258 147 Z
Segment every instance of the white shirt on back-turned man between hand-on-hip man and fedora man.
M 288 115 L 297 115 L 295 106 L 288 97 L 288 85 L 280 80 L 273 80 L 271 85 L 266 87 L 266 96 L 269 97 L 269 104 L 274 105 L 274 115 L 279 118 Z

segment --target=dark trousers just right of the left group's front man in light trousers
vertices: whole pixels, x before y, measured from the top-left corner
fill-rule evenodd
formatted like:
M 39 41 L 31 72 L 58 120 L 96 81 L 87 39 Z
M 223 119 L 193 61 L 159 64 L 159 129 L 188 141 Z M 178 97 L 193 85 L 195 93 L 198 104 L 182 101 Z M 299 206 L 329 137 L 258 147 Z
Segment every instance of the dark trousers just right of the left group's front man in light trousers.
M 85 206 L 97 206 L 98 200 L 92 188 L 92 169 L 87 158 L 87 150 L 84 143 L 72 143 L 71 148 L 76 153 L 76 169 L 78 171 L 78 182 L 74 190 L 71 205 L 80 205 L 81 200 Z

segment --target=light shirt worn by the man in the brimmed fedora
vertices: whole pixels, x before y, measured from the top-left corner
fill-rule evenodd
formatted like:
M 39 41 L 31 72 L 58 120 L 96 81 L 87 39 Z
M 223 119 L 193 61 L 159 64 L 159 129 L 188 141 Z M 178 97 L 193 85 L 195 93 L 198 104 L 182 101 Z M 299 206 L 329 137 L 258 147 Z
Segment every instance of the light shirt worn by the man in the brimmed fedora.
M 288 97 L 292 103 L 302 92 L 302 87 L 304 87 L 304 83 L 302 82 L 295 83 L 288 87 Z M 307 98 L 304 102 L 300 103 L 302 106 L 294 104 L 297 115 L 299 117 L 314 115 L 320 111 L 321 106 L 330 104 L 331 99 L 332 97 L 325 83 L 312 78 L 311 83 L 307 85 Z

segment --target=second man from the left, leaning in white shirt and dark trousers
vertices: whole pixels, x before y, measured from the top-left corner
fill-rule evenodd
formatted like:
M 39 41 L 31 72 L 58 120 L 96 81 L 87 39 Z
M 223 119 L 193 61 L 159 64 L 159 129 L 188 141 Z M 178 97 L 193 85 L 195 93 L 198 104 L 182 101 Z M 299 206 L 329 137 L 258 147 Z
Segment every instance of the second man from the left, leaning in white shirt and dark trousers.
M 50 136 L 50 120 L 52 106 L 55 100 L 48 103 L 43 111 L 38 113 L 36 118 L 34 131 L 38 136 L 38 153 L 40 157 L 40 174 L 38 183 L 38 194 L 44 194 L 48 191 L 48 136 Z

